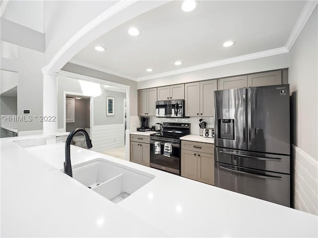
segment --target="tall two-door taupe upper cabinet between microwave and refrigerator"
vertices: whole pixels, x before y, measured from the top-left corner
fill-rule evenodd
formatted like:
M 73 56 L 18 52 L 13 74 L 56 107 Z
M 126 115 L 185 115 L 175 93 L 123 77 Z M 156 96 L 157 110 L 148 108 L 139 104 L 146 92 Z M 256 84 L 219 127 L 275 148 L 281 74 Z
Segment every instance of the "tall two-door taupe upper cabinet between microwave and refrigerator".
M 214 116 L 214 91 L 217 80 L 184 84 L 185 116 Z

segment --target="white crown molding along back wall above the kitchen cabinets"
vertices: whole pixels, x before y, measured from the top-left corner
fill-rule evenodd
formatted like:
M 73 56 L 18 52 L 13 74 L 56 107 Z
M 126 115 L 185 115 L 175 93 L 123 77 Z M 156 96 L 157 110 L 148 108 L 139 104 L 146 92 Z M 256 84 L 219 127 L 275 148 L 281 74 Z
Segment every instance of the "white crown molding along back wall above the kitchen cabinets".
M 146 76 L 146 77 L 140 77 L 137 78 L 137 81 L 144 81 L 144 80 L 149 80 L 149 79 L 157 79 L 157 78 L 162 78 L 162 77 L 167 77 L 171 75 L 178 75 L 182 73 L 187 73 L 191 71 L 197 71 L 197 70 L 204 70 L 212 67 L 217 67 L 217 66 L 222 66 L 222 65 L 228 65 L 228 64 L 233 64 L 233 63 L 238 63 L 242 61 L 247 61 L 247 60 L 254 60 L 254 59 L 259 59 L 267 56 L 273 56 L 273 55 L 279 55 L 279 54 L 284 54 L 288 53 L 285 47 L 281 48 L 276 48 L 272 50 L 266 50 L 266 51 L 261 51 L 257 53 L 252 53 L 248 55 L 243 55 L 243 56 L 238 56 L 238 57 L 233 57 L 225 60 L 218 60 L 202 65 L 196 65 L 196 66 L 191 66 L 179 70 L 173 70 L 173 71 L 168 71 L 156 75 L 151 75 L 151 76 Z

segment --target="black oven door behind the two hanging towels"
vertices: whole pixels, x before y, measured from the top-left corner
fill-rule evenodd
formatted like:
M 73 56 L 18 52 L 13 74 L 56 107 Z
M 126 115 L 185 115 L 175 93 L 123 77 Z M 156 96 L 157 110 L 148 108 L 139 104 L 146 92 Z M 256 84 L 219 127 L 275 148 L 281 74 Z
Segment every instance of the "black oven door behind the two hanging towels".
M 160 142 L 160 154 L 155 154 L 155 141 L 150 141 L 150 166 L 180 175 L 180 144 L 171 143 L 170 157 L 163 156 L 164 142 Z

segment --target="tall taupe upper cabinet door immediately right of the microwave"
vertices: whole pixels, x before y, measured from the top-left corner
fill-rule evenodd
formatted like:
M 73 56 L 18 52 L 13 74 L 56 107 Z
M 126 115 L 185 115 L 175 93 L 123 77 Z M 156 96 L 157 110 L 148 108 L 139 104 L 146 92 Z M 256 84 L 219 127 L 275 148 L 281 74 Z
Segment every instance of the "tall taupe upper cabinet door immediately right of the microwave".
M 200 82 L 184 84 L 185 116 L 200 115 Z

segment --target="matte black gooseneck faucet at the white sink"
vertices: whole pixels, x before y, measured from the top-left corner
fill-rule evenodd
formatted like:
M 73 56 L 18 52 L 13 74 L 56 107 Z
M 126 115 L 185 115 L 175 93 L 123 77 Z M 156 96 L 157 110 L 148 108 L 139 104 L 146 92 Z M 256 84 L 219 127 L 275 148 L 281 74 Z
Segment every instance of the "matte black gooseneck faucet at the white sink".
M 91 144 L 91 140 L 89 139 L 88 133 L 83 128 L 77 128 L 71 131 L 70 135 L 68 136 L 65 142 L 65 162 L 64 162 L 64 172 L 71 177 L 73 177 L 72 164 L 71 164 L 71 141 L 73 137 L 75 136 L 75 134 L 78 132 L 80 132 L 81 134 L 85 136 L 87 149 L 90 149 L 93 147 Z

